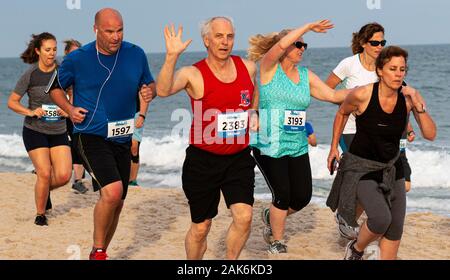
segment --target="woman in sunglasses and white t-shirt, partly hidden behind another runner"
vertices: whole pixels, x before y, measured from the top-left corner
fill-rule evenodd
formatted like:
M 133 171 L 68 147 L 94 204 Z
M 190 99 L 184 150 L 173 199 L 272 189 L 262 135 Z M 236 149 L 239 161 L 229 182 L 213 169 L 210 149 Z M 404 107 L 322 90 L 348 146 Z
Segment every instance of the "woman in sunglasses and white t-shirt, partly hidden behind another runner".
M 353 33 L 351 46 L 353 56 L 345 58 L 336 66 L 326 81 L 327 85 L 336 88 L 337 85 L 343 84 L 345 88 L 352 89 L 377 82 L 375 61 L 385 45 L 383 26 L 376 22 L 362 26 L 358 32 Z M 339 139 L 339 146 L 343 153 L 350 148 L 355 133 L 355 116 L 350 114 Z M 358 205 L 358 217 L 363 211 Z M 336 212 L 336 221 L 342 237 L 355 239 L 358 236 L 359 227 L 347 225 L 338 212 Z

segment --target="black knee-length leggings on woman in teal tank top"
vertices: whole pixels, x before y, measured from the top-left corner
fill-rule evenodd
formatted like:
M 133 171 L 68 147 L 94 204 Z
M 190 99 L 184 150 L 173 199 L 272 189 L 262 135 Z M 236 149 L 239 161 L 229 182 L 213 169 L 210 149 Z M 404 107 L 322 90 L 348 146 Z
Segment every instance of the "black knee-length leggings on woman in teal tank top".
M 256 164 L 272 192 L 272 204 L 281 210 L 299 211 L 308 205 L 312 195 L 309 155 L 272 158 L 253 148 Z

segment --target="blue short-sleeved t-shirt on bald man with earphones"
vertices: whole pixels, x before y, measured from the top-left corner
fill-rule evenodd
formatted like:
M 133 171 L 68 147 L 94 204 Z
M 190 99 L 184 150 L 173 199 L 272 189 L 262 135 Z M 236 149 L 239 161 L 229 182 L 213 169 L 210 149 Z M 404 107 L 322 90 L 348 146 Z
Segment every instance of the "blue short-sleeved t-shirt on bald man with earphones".
M 59 86 L 64 90 L 73 86 L 73 105 L 88 110 L 84 121 L 74 125 L 73 133 L 119 143 L 130 141 L 131 135 L 107 138 L 108 122 L 134 119 L 139 89 L 153 81 L 144 51 L 125 41 L 116 54 L 99 53 L 98 58 L 95 41 L 91 42 L 68 54 L 58 69 Z

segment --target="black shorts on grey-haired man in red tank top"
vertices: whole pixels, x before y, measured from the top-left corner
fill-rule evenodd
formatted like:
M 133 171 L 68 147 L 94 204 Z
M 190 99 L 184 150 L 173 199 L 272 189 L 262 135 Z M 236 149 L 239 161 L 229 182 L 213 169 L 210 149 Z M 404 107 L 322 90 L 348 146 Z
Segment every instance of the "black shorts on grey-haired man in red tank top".
M 220 191 L 228 208 L 235 203 L 253 206 L 254 169 L 255 161 L 248 147 L 234 155 L 216 155 L 189 146 L 182 181 L 192 222 L 201 223 L 217 215 Z

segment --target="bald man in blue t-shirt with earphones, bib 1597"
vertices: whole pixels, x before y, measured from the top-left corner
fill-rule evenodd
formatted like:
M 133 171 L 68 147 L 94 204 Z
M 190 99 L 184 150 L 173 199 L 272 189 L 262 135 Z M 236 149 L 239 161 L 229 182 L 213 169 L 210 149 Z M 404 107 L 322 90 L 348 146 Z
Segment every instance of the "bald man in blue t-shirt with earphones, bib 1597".
M 105 8 L 95 15 L 96 40 L 66 56 L 51 84 L 51 97 L 69 112 L 73 140 L 100 198 L 94 209 L 89 259 L 107 259 L 128 191 L 136 98 L 155 93 L 145 52 L 123 41 L 121 14 Z M 73 86 L 73 105 L 64 90 Z

